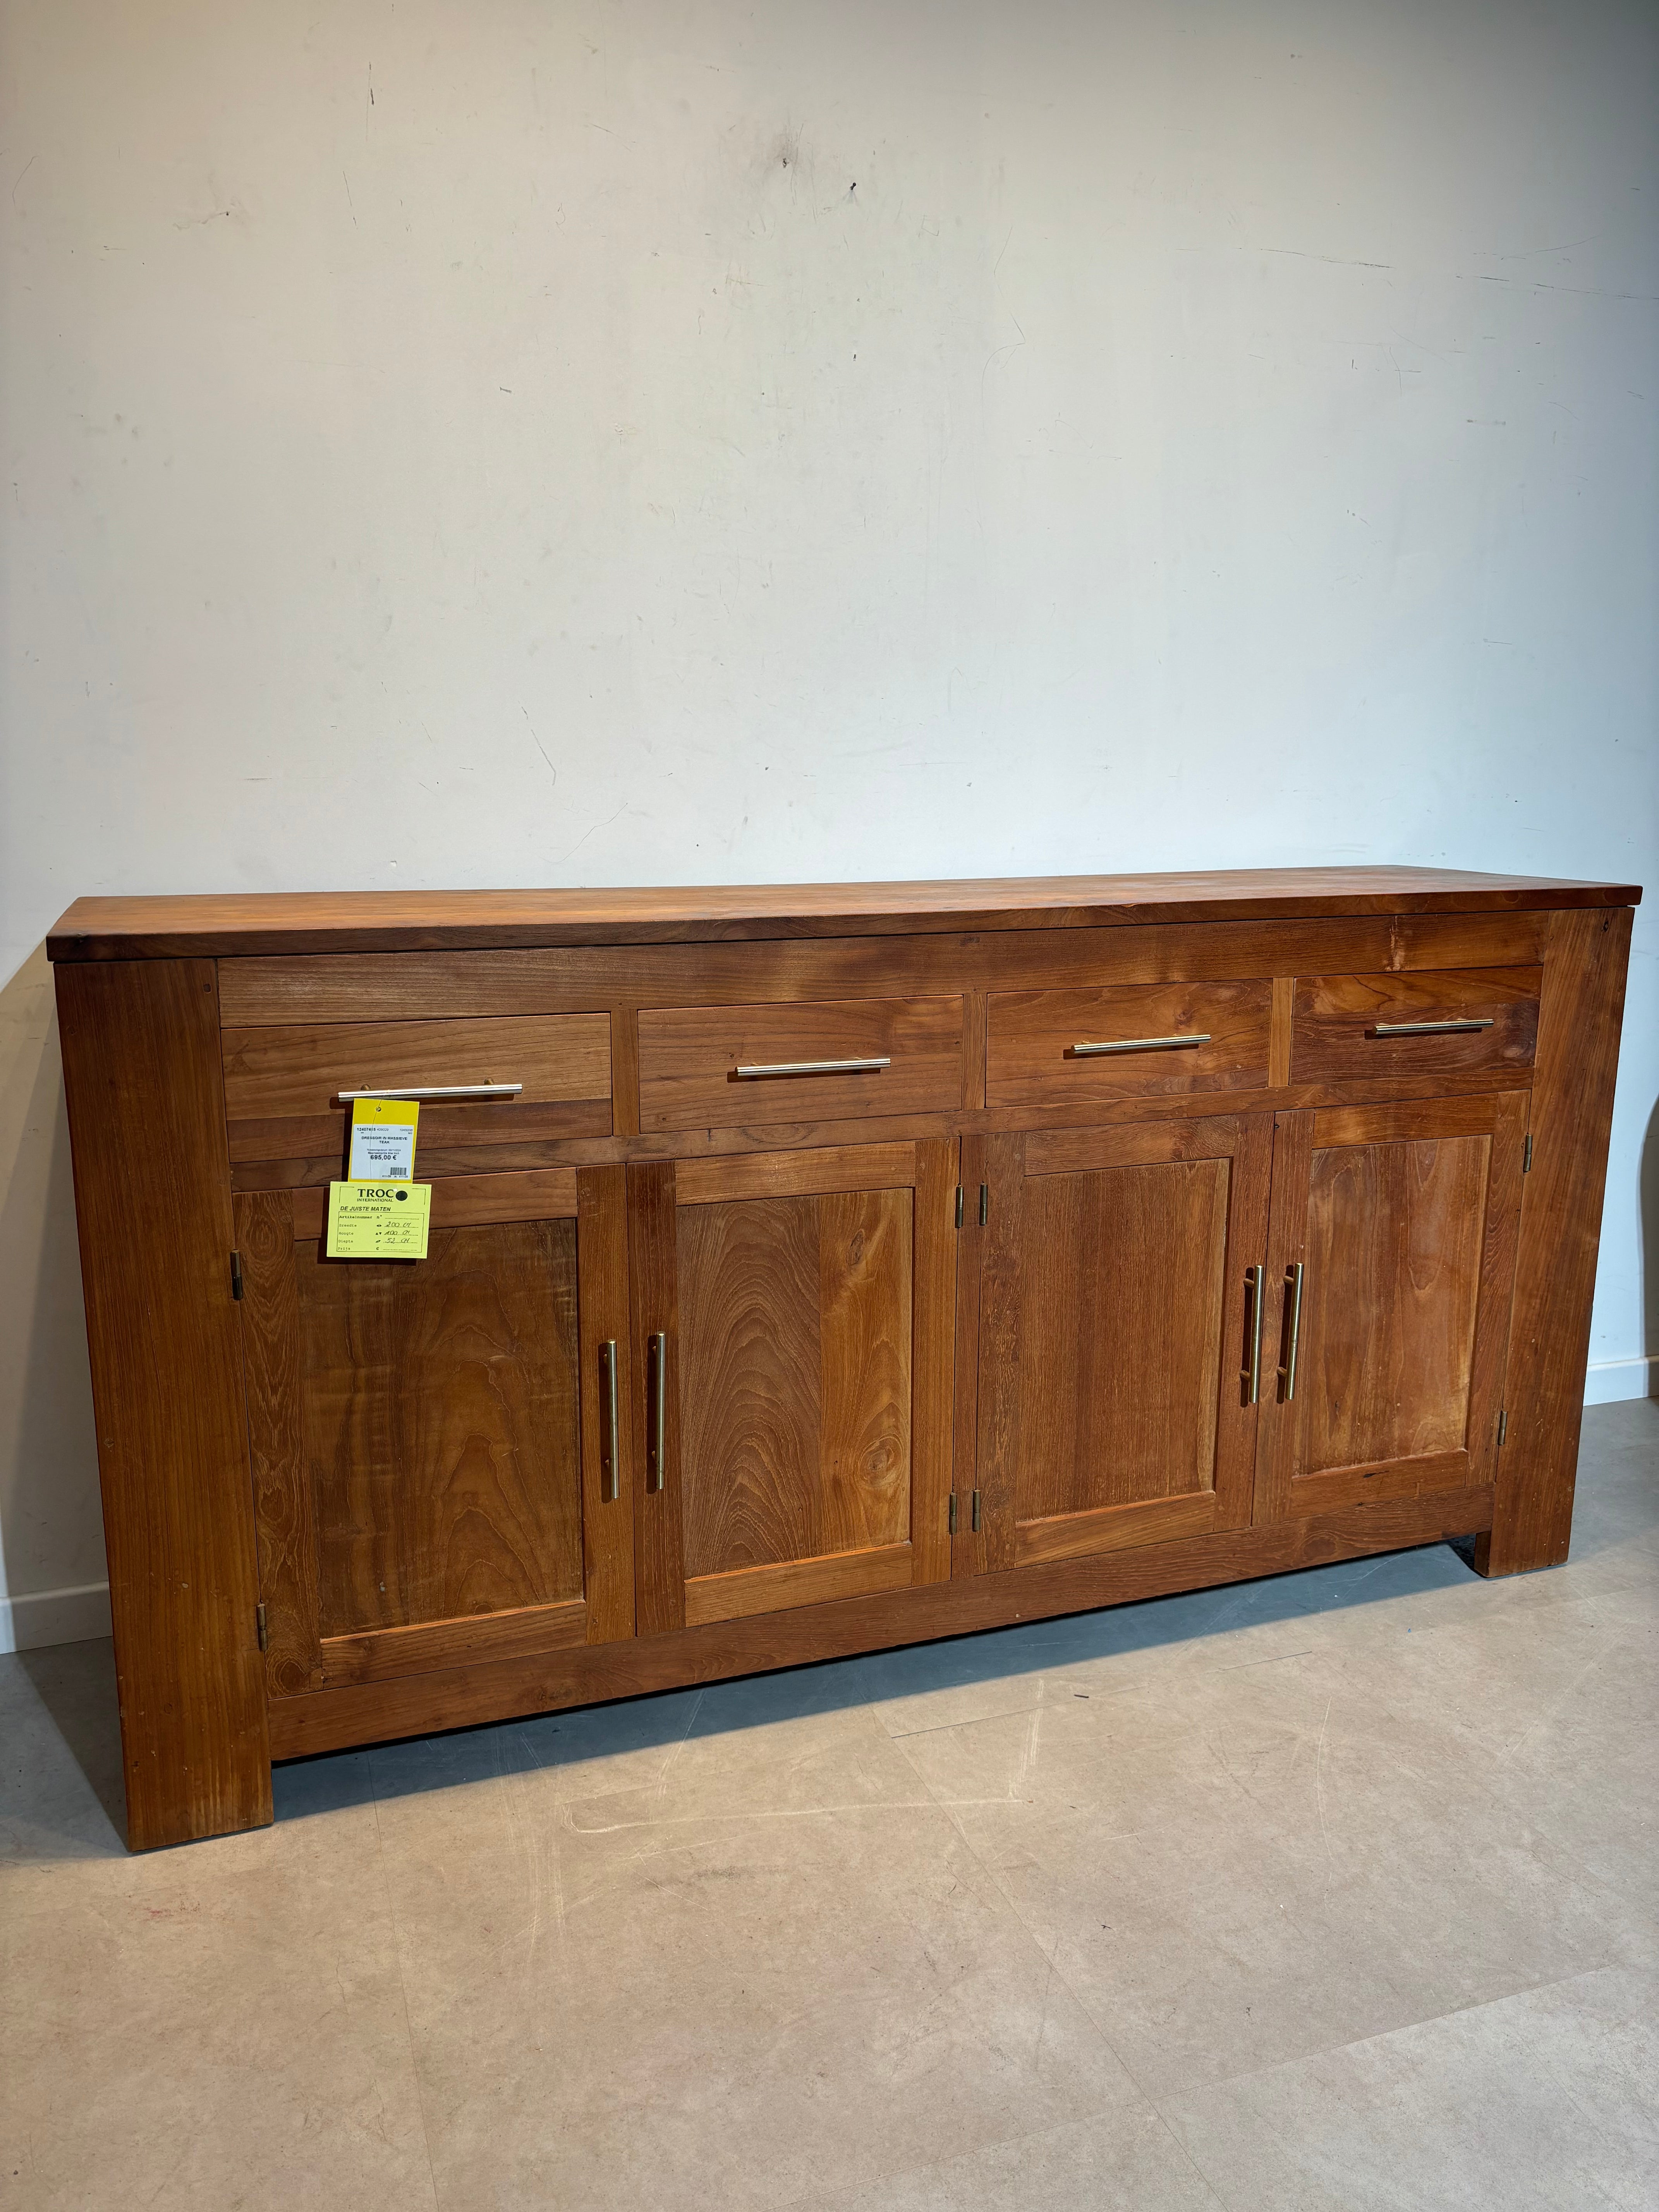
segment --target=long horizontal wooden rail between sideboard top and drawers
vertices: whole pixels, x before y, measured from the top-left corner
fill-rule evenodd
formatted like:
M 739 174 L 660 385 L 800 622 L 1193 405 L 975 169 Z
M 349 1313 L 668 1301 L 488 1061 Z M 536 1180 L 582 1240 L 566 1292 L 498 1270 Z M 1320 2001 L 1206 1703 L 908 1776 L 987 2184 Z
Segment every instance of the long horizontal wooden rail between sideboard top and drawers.
M 442 1020 L 628 1006 L 748 1004 L 757 998 L 891 998 L 967 989 L 1091 989 L 1239 975 L 1537 967 L 1548 914 L 1391 914 L 1343 920 L 1002 929 L 984 936 L 774 938 L 458 953 L 223 960 L 223 1020 Z M 622 1042 L 615 1044 L 622 1053 Z M 622 1077 L 617 1075 L 617 1082 Z

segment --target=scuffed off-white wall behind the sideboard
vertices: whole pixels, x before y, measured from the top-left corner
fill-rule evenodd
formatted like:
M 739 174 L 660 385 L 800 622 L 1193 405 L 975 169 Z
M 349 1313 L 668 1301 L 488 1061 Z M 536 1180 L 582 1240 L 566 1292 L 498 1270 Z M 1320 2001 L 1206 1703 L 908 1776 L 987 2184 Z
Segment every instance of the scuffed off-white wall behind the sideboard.
M 1657 64 L 1644 0 L 9 0 L 13 1630 L 102 1582 L 80 891 L 1655 883 Z

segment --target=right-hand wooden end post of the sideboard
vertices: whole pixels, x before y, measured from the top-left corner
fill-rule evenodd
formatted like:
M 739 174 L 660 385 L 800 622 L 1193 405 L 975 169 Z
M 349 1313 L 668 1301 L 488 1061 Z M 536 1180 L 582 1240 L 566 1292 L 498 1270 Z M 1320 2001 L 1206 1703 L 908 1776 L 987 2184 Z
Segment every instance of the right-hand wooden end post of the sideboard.
M 1559 1566 L 1573 1535 L 1630 922 L 1628 907 L 1551 916 L 1509 1332 L 1509 1436 L 1493 1524 L 1475 1544 L 1482 1575 Z

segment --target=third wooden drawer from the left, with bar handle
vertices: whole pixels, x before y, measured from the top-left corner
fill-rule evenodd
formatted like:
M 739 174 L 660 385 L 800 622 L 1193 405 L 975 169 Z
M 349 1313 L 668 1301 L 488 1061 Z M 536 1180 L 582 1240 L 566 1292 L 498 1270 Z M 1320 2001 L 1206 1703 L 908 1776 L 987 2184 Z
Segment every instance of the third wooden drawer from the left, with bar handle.
M 1265 980 L 995 991 L 987 1013 L 984 1104 L 1088 1106 L 1190 1091 L 1265 1091 L 1270 1029 Z

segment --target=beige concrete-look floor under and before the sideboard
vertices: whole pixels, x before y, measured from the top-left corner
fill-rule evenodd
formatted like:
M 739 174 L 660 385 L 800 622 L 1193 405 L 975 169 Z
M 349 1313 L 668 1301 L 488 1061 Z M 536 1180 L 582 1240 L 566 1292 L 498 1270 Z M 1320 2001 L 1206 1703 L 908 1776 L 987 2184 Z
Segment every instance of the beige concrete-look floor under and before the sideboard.
M 1659 2205 L 1659 1405 L 1447 1546 L 283 1767 L 111 1827 L 0 1661 L 0 2205 Z

